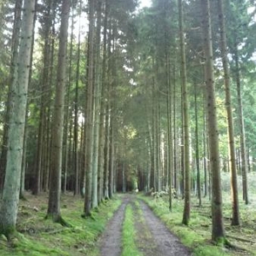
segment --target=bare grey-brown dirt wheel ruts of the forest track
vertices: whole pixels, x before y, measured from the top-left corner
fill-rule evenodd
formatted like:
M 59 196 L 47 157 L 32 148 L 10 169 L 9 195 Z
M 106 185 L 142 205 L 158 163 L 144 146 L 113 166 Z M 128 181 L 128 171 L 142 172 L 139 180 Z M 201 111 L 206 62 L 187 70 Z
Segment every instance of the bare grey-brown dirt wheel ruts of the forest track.
M 120 256 L 122 246 L 122 223 L 125 217 L 125 207 L 131 204 L 134 211 L 134 224 L 137 230 L 135 241 L 137 248 L 147 256 L 189 256 L 189 250 L 184 247 L 177 237 L 167 230 L 160 219 L 143 202 L 135 196 L 125 196 L 119 210 L 110 220 L 102 235 L 100 246 L 102 256 Z

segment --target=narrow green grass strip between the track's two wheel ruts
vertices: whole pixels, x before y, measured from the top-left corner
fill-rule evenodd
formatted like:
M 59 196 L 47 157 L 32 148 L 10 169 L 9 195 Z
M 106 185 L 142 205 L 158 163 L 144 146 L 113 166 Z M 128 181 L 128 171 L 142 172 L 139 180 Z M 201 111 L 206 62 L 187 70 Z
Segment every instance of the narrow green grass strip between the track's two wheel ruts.
M 122 232 L 122 256 L 142 256 L 135 244 L 136 231 L 134 228 L 133 211 L 131 205 L 125 209 L 125 221 Z

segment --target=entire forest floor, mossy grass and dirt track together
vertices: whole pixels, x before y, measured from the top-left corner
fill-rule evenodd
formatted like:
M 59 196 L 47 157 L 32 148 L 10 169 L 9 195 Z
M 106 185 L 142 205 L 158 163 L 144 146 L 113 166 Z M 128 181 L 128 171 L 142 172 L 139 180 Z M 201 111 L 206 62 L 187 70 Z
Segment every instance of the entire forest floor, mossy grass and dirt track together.
M 61 195 L 61 216 L 71 224 L 68 228 L 44 218 L 48 195 L 27 194 L 26 199 L 20 201 L 18 239 L 8 243 L 0 236 L 0 255 L 256 255 L 256 204 L 253 202 L 249 206 L 241 204 L 240 227 L 230 226 L 231 205 L 224 204 L 226 235 L 237 247 L 230 250 L 211 243 L 211 211 L 207 199 L 203 200 L 203 207 L 198 207 L 193 199 L 190 223 L 184 226 L 182 200 L 173 200 L 170 212 L 167 197 L 154 200 L 144 195 L 116 195 L 95 209 L 91 218 L 84 219 L 81 218 L 84 200 L 72 194 Z M 128 218 L 131 223 L 125 226 Z M 131 226 L 134 230 L 128 230 L 131 233 L 125 238 L 127 227 Z

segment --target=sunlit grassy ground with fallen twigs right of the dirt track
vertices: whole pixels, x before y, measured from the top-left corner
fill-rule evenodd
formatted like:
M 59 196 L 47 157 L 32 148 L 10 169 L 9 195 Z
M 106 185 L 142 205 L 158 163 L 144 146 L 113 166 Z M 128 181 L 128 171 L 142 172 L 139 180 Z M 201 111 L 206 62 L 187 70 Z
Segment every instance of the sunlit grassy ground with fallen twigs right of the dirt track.
M 139 195 L 143 201 L 148 203 L 148 206 L 154 211 L 154 213 L 166 224 L 166 226 L 177 235 L 182 243 L 189 247 L 195 256 L 226 256 L 226 255 L 256 255 L 253 253 L 255 250 L 253 244 L 249 243 L 245 245 L 244 242 L 232 240 L 231 243 L 237 247 L 246 247 L 247 252 L 228 250 L 225 247 L 218 247 L 211 242 L 211 231 L 212 231 L 212 219 L 210 218 L 211 207 L 209 201 L 203 201 L 203 207 L 196 207 L 197 203 L 195 199 L 192 199 L 191 211 L 190 211 L 190 222 L 188 226 L 181 224 L 183 217 L 183 201 L 173 200 L 172 201 L 172 212 L 168 209 L 168 198 L 160 198 L 158 201 L 154 201 L 151 197 Z M 230 226 L 230 205 L 224 205 L 224 225 L 227 230 L 227 235 L 241 237 L 242 235 L 249 234 L 248 226 L 244 227 L 232 227 Z M 241 205 L 241 216 L 247 215 L 252 216 L 251 212 L 248 212 L 250 207 Z M 255 210 L 255 208 L 254 208 Z M 227 212 L 225 212 L 227 211 Z M 255 219 L 255 218 L 254 218 Z M 253 224 L 253 222 L 252 222 Z M 251 231 L 253 226 L 251 226 Z M 230 238 L 228 237 L 230 240 Z M 254 240 L 253 236 L 248 238 Z M 255 245 L 254 245 L 255 246 Z

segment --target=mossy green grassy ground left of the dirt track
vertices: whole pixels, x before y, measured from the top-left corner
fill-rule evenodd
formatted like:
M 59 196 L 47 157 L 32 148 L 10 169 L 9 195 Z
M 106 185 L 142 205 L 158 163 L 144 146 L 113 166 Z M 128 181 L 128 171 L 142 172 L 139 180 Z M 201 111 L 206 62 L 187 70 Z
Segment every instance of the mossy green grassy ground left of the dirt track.
M 20 202 L 17 228 L 22 232 L 12 245 L 7 245 L 4 237 L 0 237 L 0 255 L 2 256 L 68 256 L 99 255 L 96 240 L 104 230 L 109 218 L 119 207 L 120 200 L 115 198 L 104 201 L 92 212 L 93 218 L 81 218 L 84 201 L 73 195 L 61 197 L 61 216 L 71 224 L 71 228 L 62 227 L 46 215 L 46 195 L 33 197 L 27 195 L 28 201 Z M 33 210 L 38 208 L 38 212 Z

